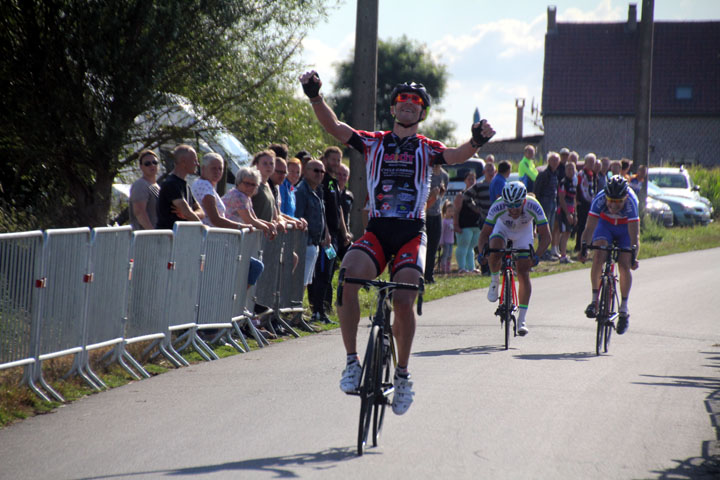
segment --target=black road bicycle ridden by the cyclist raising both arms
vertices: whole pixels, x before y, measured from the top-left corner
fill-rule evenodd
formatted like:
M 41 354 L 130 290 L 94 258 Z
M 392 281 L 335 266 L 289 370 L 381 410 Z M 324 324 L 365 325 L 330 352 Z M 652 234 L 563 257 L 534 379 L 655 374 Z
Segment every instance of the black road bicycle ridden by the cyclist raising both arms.
M 391 377 L 397 364 L 395 340 L 392 334 L 390 318 L 392 315 L 392 293 L 395 290 L 417 290 L 417 313 L 422 315 L 422 295 L 424 282 L 420 278 L 419 285 L 410 283 L 385 282 L 382 280 L 364 280 L 361 278 L 345 277 L 345 269 L 338 273 L 337 302 L 342 305 L 343 287 L 345 283 L 362 285 L 368 289 L 376 290 L 377 307 L 375 315 L 370 317 L 370 337 L 365 349 L 365 358 L 362 362 L 360 386 L 357 391 L 349 395 L 360 397 L 360 424 L 358 426 L 357 453 L 362 455 L 365 451 L 370 424 L 372 423 L 372 444 L 377 446 L 385 419 L 385 407 L 392 403 L 393 379 Z

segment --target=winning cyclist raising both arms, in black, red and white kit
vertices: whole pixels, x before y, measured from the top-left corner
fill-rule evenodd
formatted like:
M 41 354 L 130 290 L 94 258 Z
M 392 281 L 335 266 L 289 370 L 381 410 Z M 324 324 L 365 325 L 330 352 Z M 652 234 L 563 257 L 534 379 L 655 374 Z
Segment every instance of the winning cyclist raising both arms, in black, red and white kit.
M 393 281 L 418 285 L 425 263 L 425 204 L 430 191 L 432 166 L 436 163 L 461 163 L 495 134 L 485 121 L 472 126 L 471 140 L 456 148 L 418 135 L 418 124 L 425 120 L 430 95 L 418 83 L 397 85 L 391 94 L 390 112 L 395 122 L 387 132 L 356 130 L 340 122 L 320 95 L 322 82 L 314 70 L 300 77 L 323 128 L 342 143 L 365 156 L 369 222 L 365 233 L 352 244 L 342 262 L 346 276 L 373 279 L 390 263 Z M 346 284 L 342 306 L 338 307 L 340 330 L 347 353 L 340 388 L 357 390 L 362 368 L 357 354 L 357 329 L 360 322 L 359 285 Z M 408 361 L 415 335 L 413 302 L 416 291 L 393 293 L 398 363 L 393 378 L 395 394 L 392 409 L 402 415 L 413 401 Z

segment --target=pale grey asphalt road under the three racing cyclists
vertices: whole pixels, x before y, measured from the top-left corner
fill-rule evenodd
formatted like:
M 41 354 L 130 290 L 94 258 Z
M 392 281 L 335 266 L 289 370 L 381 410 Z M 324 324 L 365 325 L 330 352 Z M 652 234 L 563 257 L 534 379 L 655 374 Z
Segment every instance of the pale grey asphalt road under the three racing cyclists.
M 336 330 L 0 430 L 0 478 L 717 479 L 719 265 L 720 249 L 642 261 L 630 329 L 600 357 L 587 270 L 534 279 L 508 351 L 486 290 L 426 303 L 415 404 L 360 458 Z

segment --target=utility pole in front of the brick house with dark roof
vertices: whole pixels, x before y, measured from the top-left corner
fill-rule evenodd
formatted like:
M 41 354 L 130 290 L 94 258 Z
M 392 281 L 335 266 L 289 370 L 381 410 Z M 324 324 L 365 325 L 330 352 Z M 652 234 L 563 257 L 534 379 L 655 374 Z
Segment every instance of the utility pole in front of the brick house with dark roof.
M 650 160 L 650 93 L 652 92 L 652 52 L 654 31 L 655 0 L 643 0 L 642 20 L 640 22 L 637 105 L 635 108 L 635 140 L 633 143 L 633 161 L 649 168 Z M 645 214 L 647 198 L 647 176 L 640 191 L 640 218 Z

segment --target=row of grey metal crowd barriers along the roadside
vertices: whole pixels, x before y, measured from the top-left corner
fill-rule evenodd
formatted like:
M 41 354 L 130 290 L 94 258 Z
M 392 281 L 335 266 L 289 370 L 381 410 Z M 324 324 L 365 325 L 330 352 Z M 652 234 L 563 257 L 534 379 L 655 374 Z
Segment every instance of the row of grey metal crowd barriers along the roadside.
M 179 354 L 195 349 L 217 356 L 199 332 L 214 332 L 239 352 L 249 350 L 243 329 L 267 345 L 251 321 L 255 302 L 266 320 L 293 330 L 280 315 L 302 322 L 302 269 L 307 234 L 289 230 L 272 241 L 259 231 L 207 228 L 178 222 L 171 230 L 129 227 L 52 229 L 0 234 L 0 370 L 23 368 L 22 383 L 45 400 L 64 401 L 43 378 L 42 362 L 73 355 L 66 376 L 106 388 L 92 371 L 89 352 L 112 347 L 108 361 L 135 378 L 149 377 L 126 347 L 187 365 Z M 248 289 L 250 258 L 264 271 Z M 266 322 L 272 329 L 272 322 Z M 176 335 L 173 337 L 173 333 Z M 207 335 L 204 336 L 208 339 Z

